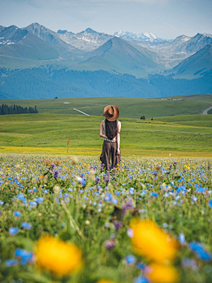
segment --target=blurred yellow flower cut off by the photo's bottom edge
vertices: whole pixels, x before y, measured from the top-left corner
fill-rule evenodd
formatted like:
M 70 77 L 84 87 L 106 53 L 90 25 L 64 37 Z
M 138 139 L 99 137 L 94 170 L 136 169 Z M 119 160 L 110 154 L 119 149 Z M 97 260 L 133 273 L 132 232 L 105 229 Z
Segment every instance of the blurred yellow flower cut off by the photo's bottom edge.
M 178 281 L 178 271 L 175 267 L 170 265 L 148 265 L 144 275 L 152 283 L 175 283 Z

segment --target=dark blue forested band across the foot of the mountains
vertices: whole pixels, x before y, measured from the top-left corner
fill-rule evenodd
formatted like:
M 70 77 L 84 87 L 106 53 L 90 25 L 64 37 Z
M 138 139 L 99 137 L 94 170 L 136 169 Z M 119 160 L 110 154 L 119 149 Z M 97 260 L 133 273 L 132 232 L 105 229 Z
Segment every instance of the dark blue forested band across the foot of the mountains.
M 195 80 L 149 75 L 136 79 L 130 74 L 105 71 L 55 70 L 51 66 L 32 69 L 0 69 L 0 98 L 58 98 L 127 96 L 152 98 L 208 94 L 212 73 Z

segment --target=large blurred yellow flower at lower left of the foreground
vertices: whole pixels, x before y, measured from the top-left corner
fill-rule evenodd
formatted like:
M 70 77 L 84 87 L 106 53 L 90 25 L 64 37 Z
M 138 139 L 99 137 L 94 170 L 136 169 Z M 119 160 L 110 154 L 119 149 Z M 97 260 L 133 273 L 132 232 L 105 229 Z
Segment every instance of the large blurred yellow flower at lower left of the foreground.
M 39 268 L 53 272 L 58 277 L 78 272 L 82 267 L 82 253 L 75 244 L 49 235 L 39 239 L 35 256 Z

